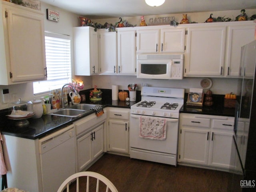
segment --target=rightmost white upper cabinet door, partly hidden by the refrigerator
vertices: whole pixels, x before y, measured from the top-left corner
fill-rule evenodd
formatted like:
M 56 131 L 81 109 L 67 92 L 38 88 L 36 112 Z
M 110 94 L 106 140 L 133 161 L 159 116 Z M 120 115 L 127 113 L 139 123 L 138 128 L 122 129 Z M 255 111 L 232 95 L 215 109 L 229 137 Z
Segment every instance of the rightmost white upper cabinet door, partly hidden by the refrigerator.
M 225 75 L 241 76 L 241 47 L 254 40 L 255 25 L 228 26 Z

